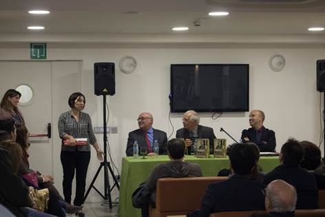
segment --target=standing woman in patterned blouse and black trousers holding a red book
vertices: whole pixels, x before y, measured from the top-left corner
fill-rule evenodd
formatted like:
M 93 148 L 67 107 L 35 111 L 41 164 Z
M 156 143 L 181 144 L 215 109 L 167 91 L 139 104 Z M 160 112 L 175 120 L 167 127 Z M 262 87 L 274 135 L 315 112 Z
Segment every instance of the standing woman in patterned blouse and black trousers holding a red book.
M 83 204 L 85 180 L 90 163 L 90 144 L 94 146 L 99 161 L 103 161 L 103 151 L 96 142 L 92 130 L 90 115 L 81 112 L 85 107 L 85 96 L 75 92 L 69 97 L 70 111 L 63 112 L 59 117 L 59 136 L 62 139 L 61 163 L 63 167 L 63 194 L 65 201 L 71 203 L 72 180 L 76 171 L 76 196 L 74 205 Z M 78 145 L 78 138 L 87 138 L 87 142 Z

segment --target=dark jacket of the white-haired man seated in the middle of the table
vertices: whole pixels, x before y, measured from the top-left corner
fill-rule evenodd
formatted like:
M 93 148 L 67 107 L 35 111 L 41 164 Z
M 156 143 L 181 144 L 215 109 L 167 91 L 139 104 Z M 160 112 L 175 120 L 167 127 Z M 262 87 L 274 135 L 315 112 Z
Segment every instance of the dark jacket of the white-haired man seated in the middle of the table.
M 189 131 L 185 128 L 181 128 L 176 132 L 176 138 L 189 138 Z M 202 125 L 198 125 L 198 138 L 209 138 L 209 151 L 210 154 L 213 154 L 214 149 L 214 139 L 216 136 L 213 133 L 213 129 L 211 127 L 205 127 Z

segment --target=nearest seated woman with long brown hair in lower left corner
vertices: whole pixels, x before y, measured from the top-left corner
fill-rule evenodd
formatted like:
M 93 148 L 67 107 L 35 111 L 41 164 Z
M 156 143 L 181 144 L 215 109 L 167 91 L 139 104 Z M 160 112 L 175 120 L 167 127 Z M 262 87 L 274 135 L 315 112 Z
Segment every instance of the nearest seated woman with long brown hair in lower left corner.
M 4 143 L 8 143 L 3 146 Z M 0 203 L 14 216 L 53 217 L 32 209 L 29 189 L 16 175 L 21 161 L 21 148 L 12 141 L 3 141 L 0 145 Z

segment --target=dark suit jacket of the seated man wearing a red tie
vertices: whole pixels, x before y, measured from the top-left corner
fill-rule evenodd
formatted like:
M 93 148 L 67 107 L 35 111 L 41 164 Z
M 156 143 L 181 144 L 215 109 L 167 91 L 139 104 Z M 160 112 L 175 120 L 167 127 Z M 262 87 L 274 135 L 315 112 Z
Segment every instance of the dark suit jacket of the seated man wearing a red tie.
M 157 140 L 159 143 L 159 154 L 167 154 L 166 143 L 167 143 L 167 134 L 161 130 L 154 129 L 154 141 Z M 129 132 L 129 137 L 127 138 L 127 149 L 125 153 L 127 156 L 133 156 L 133 144 L 134 141 L 138 141 L 139 154 L 141 147 L 147 147 L 147 142 L 145 141 L 145 132 L 143 130 L 137 129 L 132 132 Z

